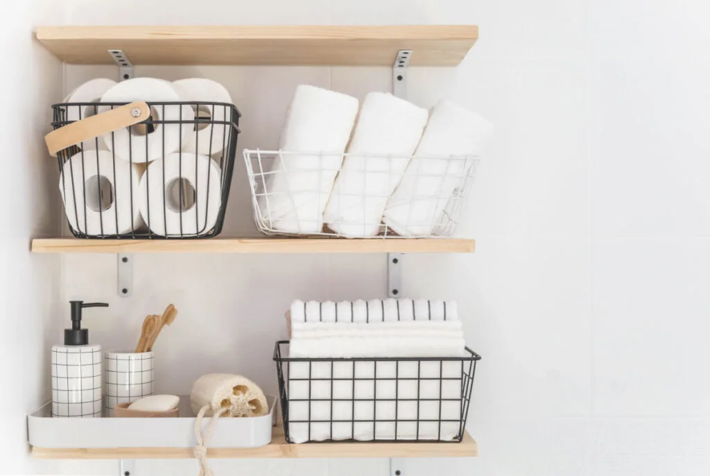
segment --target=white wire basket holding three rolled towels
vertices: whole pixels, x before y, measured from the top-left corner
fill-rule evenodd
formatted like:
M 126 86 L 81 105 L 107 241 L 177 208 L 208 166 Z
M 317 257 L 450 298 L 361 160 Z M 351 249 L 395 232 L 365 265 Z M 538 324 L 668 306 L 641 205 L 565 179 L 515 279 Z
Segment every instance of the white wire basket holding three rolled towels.
M 244 161 L 266 235 L 444 238 L 480 159 L 245 149 Z

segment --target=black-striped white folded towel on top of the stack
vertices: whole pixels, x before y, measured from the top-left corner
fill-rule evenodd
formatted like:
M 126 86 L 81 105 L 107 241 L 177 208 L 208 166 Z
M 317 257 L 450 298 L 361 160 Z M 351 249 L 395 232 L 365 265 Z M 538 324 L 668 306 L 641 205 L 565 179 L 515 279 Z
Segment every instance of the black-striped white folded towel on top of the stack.
M 372 299 L 370 301 L 293 301 L 290 320 L 296 322 L 458 321 L 456 301 Z

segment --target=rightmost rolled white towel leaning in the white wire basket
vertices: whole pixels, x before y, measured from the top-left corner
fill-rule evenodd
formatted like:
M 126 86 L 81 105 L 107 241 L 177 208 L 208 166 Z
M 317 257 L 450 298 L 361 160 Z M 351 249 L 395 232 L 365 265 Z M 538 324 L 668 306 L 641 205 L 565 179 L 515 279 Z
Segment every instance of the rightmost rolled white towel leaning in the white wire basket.
M 444 210 L 457 201 L 457 190 L 474 166 L 473 157 L 481 153 L 492 132 L 491 123 L 478 114 L 441 101 L 388 201 L 386 225 L 402 236 L 429 236 L 435 228 L 451 231 L 441 226 L 447 221 Z

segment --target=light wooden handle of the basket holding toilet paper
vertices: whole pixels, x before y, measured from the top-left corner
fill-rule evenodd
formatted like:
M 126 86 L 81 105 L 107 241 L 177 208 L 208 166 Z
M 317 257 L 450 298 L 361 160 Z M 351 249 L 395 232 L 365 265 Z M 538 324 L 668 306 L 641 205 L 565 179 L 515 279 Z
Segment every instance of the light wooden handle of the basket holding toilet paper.
M 151 108 L 143 101 L 132 102 L 111 111 L 72 122 L 45 135 L 45 143 L 50 154 L 72 145 L 93 139 L 99 135 L 118 131 L 145 121 L 151 116 Z

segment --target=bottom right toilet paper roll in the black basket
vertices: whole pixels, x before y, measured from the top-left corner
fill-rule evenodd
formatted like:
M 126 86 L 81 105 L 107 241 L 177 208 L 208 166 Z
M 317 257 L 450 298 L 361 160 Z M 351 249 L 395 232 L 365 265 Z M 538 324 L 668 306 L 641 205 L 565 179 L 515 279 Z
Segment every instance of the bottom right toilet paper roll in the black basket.
M 143 220 L 160 236 L 209 233 L 222 204 L 221 176 L 217 163 L 205 155 L 173 153 L 156 160 L 141 179 Z

